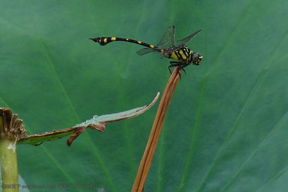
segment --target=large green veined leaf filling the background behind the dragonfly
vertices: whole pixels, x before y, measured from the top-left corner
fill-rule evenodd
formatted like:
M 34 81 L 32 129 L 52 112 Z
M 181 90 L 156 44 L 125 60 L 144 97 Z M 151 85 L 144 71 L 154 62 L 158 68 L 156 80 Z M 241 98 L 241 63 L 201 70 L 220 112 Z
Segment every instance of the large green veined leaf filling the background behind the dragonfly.
M 116 36 L 156 45 L 166 28 L 199 66 L 174 93 L 145 191 L 287 191 L 288 1 L 7 1 L 0 8 L 0 106 L 29 134 L 149 104 L 169 78 L 167 58 Z M 156 103 L 157 105 L 157 103 Z M 157 107 L 105 132 L 86 130 L 37 147 L 18 145 L 30 191 L 130 191 Z M 59 189 L 59 184 L 69 189 Z M 73 189 L 73 184 L 95 184 Z

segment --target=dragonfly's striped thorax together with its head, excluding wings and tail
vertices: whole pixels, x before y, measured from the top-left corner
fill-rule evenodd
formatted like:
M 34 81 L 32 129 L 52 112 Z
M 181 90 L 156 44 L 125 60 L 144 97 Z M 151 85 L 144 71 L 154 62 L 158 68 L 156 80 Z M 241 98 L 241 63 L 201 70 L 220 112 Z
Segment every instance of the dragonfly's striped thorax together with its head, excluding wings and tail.
M 165 57 L 179 60 L 183 62 L 183 65 L 189 65 L 191 62 L 194 65 L 199 65 L 202 60 L 202 56 L 198 52 L 195 53 L 186 46 L 180 47 Z

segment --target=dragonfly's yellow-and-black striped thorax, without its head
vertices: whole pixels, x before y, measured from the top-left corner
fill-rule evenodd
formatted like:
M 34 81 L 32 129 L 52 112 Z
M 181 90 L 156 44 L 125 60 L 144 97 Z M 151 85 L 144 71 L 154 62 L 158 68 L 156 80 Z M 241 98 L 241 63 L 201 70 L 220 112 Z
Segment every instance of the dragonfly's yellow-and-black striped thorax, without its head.
M 192 54 L 193 51 L 190 50 L 188 47 L 180 47 L 176 51 L 168 54 L 166 57 L 169 59 L 175 59 L 183 62 L 184 64 L 190 64 L 192 62 Z

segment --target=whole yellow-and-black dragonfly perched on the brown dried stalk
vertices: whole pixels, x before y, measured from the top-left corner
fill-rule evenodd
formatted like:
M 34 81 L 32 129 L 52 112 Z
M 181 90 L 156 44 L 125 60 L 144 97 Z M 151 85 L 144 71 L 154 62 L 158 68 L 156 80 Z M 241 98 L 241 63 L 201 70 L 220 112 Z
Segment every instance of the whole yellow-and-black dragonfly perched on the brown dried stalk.
M 169 59 L 177 60 L 177 61 L 170 61 L 168 69 L 171 73 L 170 67 L 179 66 L 178 69 L 183 69 L 184 67 L 190 65 L 191 63 L 193 65 L 200 64 L 203 56 L 198 52 L 194 52 L 190 50 L 188 47 L 186 47 L 187 43 L 189 43 L 189 41 L 200 31 L 201 30 L 196 31 L 192 35 L 189 35 L 188 37 L 175 42 L 175 26 L 170 26 L 166 29 L 160 42 L 156 46 L 143 43 L 142 41 L 135 41 L 133 39 L 124 39 L 119 37 L 96 37 L 89 39 L 99 43 L 100 45 L 106 45 L 107 43 L 110 43 L 112 41 L 127 41 L 130 43 L 136 43 L 148 47 L 143 48 L 137 51 L 136 53 L 138 55 L 144 55 L 147 53 L 156 52 L 161 54 L 160 58 L 166 57 Z M 184 69 L 183 71 L 186 74 Z

